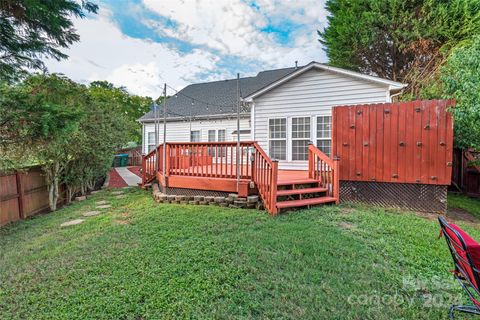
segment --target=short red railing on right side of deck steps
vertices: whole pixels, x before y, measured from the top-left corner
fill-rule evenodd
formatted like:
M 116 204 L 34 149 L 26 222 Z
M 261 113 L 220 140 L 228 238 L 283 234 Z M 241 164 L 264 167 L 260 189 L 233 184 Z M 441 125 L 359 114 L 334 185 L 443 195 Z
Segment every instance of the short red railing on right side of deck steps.
M 308 177 L 318 180 L 327 189 L 327 194 L 339 201 L 339 161 L 330 159 L 313 144 L 308 145 Z

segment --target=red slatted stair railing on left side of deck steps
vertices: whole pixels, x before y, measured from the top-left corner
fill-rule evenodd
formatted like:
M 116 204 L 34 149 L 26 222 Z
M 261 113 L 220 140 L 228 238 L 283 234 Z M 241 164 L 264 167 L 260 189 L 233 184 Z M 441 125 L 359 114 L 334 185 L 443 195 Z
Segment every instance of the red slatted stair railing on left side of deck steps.
M 258 189 L 265 209 L 275 215 L 277 210 L 278 162 L 273 161 L 255 142 L 252 161 L 252 181 Z

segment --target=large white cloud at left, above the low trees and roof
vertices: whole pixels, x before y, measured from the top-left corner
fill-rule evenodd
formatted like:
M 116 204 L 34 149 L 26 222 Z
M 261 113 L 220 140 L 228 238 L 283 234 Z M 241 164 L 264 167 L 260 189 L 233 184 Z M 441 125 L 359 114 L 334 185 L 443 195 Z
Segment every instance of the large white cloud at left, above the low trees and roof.
M 132 93 L 158 97 L 164 82 L 182 88 L 197 81 L 197 74 L 215 70 L 219 61 L 200 49 L 182 55 L 162 43 L 127 37 L 110 22 L 107 12 L 77 19 L 75 27 L 81 40 L 66 50 L 70 58 L 49 60 L 47 66 L 80 82 L 108 80 Z

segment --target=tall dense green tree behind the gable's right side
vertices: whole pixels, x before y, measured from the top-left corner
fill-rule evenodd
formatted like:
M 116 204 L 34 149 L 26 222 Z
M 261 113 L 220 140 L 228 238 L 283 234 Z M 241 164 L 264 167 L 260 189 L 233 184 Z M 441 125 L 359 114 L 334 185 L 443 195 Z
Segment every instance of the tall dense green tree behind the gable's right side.
M 328 0 L 326 8 L 329 24 L 318 34 L 331 65 L 413 89 L 480 30 L 478 0 Z

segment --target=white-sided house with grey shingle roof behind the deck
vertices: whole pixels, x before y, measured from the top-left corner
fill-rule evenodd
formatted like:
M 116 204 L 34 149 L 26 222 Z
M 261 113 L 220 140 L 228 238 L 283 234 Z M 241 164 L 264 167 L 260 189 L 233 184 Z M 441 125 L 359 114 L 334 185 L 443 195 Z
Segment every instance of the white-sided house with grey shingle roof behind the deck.
M 306 170 L 308 144 L 331 155 L 333 106 L 391 102 L 405 84 L 311 62 L 239 80 L 240 137 L 257 141 L 280 169 Z M 237 80 L 192 84 L 167 99 L 167 142 L 237 139 Z M 160 108 L 159 142 L 163 142 Z M 139 119 L 143 152 L 155 148 L 155 113 Z

